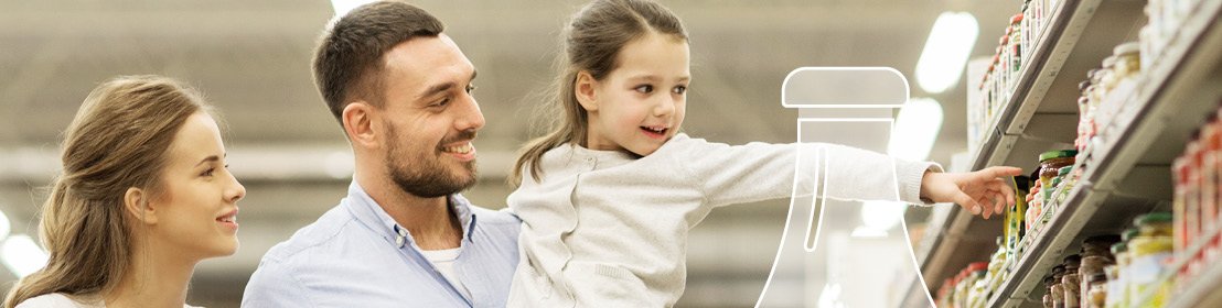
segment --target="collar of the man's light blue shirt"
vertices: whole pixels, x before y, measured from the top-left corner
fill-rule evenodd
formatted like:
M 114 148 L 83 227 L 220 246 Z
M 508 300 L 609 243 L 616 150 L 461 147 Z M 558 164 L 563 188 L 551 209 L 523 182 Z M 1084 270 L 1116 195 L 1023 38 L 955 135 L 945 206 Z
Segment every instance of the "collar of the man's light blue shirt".
M 473 241 L 472 234 L 475 230 L 475 213 L 470 209 L 470 201 L 459 194 L 452 194 L 446 200 L 452 212 L 458 217 L 458 224 L 462 226 L 463 233 L 462 241 Z M 348 185 L 348 197 L 345 200 L 345 205 L 348 205 L 348 212 L 358 222 L 369 226 L 369 229 L 374 230 L 391 245 L 403 247 L 408 242 L 414 242 L 407 228 L 398 225 L 356 180 Z

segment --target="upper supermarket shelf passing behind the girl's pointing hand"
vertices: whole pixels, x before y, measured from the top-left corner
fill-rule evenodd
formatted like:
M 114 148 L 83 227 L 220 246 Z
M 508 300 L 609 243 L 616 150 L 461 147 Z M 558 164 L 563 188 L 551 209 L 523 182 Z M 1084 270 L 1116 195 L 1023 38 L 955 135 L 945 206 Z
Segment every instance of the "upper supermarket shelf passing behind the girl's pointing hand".
M 1031 170 L 1040 152 L 1069 147 L 1078 121 L 1077 84 L 1111 55 L 1112 46 L 1135 38 L 1145 23 L 1145 1 L 1140 0 L 1064 0 L 1059 5 L 1022 68 L 1014 95 L 986 130 L 973 169 L 1004 164 Z M 1001 220 L 984 220 L 954 207 L 947 219 L 930 224 L 927 236 L 936 239 L 931 248 L 916 254 L 925 284 L 936 290 L 968 263 L 987 259 L 996 248 L 993 239 L 1001 235 Z

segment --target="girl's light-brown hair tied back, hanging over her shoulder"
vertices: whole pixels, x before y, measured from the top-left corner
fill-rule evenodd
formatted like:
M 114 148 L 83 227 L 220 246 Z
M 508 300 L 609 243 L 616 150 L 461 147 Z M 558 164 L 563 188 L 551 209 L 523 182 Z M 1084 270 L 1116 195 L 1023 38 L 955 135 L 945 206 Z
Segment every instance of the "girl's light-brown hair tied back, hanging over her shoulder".
M 577 101 L 574 83 L 578 73 L 588 72 L 594 79 L 602 80 L 620 66 L 616 62 L 620 50 L 650 32 L 688 40 L 679 18 L 653 1 L 595 0 L 573 16 L 561 41 L 565 55 L 558 62 L 560 74 L 552 86 L 555 99 L 541 106 L 539 112 L 545 114 L 544 127 L 549 133 L 523 147 L 513 164 L 511 184 L 522 184 L 528 166 L 530 177 L 539 180 L 539 161 L 549 150 L 569 142 L 585 144 L 589 119 L 585 108 Z M 547 117 L 557 113 L 563 117 Z

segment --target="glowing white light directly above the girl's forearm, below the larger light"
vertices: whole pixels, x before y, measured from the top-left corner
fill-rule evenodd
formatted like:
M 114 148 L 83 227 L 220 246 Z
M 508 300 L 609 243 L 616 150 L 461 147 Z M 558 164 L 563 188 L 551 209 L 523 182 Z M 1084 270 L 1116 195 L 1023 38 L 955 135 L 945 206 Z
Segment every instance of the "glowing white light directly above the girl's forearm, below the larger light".
M 934 99 L 912 99 L 896 117 L 887 155 L 908 161 L 925 161 L 942 129 L 942 105 Z

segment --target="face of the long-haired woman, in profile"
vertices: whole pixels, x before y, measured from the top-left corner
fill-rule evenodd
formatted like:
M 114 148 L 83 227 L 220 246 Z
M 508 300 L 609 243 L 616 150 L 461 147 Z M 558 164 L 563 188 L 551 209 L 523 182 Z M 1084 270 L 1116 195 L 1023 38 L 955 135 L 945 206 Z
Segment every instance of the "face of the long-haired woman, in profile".
M 150 236 L 167 253 L 208 258 L 237 251 L 237 201 L 246 196 L 225 162 L 216 122 L 199 112 L 175 135 L 161 170 L 161 191 L 152 208 Z

